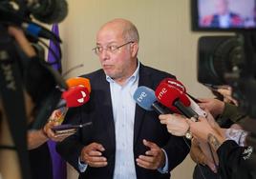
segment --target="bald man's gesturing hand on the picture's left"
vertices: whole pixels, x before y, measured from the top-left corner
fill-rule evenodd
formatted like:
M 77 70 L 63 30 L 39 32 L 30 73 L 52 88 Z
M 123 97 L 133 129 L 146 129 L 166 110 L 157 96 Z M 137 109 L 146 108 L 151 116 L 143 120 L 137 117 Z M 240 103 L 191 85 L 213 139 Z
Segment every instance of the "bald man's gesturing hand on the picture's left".
M 102 156 L 105 149 L 101 144 L 92 143 L 81 151 L 81 161 L 93 168 L 101 168 L 108 165 L 106 157 Z

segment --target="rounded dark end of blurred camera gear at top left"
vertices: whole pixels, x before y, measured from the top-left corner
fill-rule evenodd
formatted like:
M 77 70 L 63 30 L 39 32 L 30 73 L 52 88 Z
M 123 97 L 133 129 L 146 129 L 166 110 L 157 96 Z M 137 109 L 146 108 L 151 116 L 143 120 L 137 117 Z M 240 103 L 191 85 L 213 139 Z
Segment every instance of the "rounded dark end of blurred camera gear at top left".
M 31 0 L 27 6 L 34 18 L 47 24 L 59 23 L 68 14 L 65 0 Z

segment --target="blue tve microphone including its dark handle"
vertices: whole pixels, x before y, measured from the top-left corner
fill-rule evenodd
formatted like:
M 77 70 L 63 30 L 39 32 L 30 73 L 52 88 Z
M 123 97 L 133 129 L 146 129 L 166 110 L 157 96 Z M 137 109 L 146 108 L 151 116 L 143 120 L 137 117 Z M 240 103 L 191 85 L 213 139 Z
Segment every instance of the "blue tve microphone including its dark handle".
M 159 114 L 170 113 L 162 107 L 160 107 L 160 103 L 157 101 L 155 91 L 153 89 L 141 86 L 138 89 L 136 89 L 133 98 L 139 105 L 139 107 L 141 107 L 142 109 L 155 110 Z

